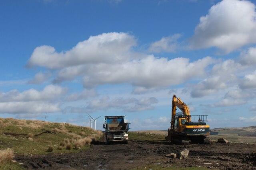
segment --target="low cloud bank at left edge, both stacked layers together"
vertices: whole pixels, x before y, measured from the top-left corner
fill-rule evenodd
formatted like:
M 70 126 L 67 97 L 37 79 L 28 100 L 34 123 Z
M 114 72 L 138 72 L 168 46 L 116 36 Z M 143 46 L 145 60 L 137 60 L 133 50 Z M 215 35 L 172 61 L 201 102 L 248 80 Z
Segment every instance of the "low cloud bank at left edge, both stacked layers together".
M 60 111 L 58 98 L 66 94 L 66 88 L 48 85 L 42 91 L 35 89 L 0 93 L 0 113 L 46 113 Z

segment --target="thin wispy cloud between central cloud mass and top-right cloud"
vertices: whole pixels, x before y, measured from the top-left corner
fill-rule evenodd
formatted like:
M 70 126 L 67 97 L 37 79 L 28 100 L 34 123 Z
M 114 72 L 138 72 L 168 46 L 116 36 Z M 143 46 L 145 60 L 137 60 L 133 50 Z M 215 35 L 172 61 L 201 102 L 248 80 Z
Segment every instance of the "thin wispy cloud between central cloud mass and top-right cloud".
M 179 48 L 177 40 L 181 37 L 181 34 L 174 34 L 169 37 L 162 37 L 159 41 L 152 43 L 148 49 L 150 52 L 175 52 Z

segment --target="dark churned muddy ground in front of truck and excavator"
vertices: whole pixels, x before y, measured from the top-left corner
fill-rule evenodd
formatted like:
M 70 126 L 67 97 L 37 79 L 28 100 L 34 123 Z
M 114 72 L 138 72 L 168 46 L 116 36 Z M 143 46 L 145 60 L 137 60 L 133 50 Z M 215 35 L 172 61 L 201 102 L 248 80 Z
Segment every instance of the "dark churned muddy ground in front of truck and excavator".
M 169 153 L 178 153 L 184 149 L 190 150 L 185 160 L 166 157 Z M 237 143 L 174 145 L 167 141 L 129 141 L 127 145 L 120 143 L 106 145 L 103 141 L 96 141 L 89 150 L 79 150 L 78 153 L 16 155 L 14 160 L 23 163 L 22 165 L 27 169 L 123 170 L 160 164 L 162 167 L 200 166 L 222 170 L 256 170 L 256 145 Z

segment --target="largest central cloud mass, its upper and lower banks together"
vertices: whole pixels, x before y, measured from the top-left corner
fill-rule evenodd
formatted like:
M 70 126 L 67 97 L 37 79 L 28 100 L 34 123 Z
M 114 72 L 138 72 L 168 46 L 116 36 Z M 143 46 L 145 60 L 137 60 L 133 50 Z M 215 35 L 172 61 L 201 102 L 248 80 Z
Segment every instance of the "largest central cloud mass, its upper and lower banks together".
M 37 47 L 27 66 L 57 69 L 53 83 L 79 77 L 86 89 L 104 84 L 132 84 L 132 93 L 142 94 L 203 77 L 205 68 L 214 63 L 211 57 L 190 62 L 188 58 L 168 60 L 138 54 L 132 51 L 135 45 L 136 39 L 128 33 L 103 33 L 60 53 L 54 47 Z

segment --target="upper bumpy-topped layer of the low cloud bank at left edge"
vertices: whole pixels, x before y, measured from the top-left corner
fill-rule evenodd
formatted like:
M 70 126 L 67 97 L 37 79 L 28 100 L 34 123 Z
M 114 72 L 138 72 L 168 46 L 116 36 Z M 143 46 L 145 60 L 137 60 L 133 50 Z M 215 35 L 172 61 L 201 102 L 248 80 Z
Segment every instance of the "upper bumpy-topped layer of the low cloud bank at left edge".
M 27 101 L 42 101 L 54 100 L 66 93 L 66 88 L 60 86 L 48 85 L 42 91 L 35 89 L 19 92 L 11 90 L 10 92 L 0 93 L 0 102 L 27 102 Z

